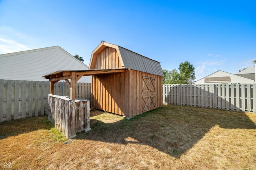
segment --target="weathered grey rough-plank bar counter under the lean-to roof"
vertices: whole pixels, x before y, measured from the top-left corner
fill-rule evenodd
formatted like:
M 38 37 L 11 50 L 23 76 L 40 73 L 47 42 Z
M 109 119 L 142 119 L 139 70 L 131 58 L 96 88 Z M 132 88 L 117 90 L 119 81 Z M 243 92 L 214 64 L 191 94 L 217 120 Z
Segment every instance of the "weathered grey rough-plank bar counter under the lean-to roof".
M 90 130 L 90 100 L 48 95 L 48 119 L 70 139 L 77 132 Z

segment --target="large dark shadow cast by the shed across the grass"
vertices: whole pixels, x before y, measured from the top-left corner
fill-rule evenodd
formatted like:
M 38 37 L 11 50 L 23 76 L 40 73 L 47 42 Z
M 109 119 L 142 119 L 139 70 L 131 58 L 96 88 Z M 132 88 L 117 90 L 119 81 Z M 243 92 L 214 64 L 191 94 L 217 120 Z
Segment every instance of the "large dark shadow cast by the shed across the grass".
M 77 133 L 76 139 L 148 145 L 176 158 L 216 125 L 225 129 L 256 129 L 245 113 L 188 106 L 163 106 L 129 120 L 94 120 L 93 124 L 91 131 Z

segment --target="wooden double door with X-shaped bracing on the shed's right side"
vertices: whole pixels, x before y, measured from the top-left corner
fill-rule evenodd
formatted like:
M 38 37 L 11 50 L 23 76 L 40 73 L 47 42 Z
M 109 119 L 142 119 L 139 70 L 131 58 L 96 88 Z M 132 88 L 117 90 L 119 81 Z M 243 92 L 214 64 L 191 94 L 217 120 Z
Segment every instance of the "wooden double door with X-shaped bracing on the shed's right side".
M 156 78 L 142 77 L 142 113 L 156 108 Z

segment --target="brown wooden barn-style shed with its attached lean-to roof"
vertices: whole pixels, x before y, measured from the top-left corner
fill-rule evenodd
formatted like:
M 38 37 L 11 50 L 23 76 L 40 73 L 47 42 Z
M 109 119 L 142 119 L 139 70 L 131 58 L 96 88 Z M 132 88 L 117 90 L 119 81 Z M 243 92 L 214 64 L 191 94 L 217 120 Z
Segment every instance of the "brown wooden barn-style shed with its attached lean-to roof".
M 92 52 L 89 70 L 58 71 L 44 77 L 51 78 L 53 85 L 56 80 L 73 77 L 76 82 L 88 75 L 92 75 L 91 102 L 96 109 L 133 117 L 162 106 L 160 63 L 105 41 Z

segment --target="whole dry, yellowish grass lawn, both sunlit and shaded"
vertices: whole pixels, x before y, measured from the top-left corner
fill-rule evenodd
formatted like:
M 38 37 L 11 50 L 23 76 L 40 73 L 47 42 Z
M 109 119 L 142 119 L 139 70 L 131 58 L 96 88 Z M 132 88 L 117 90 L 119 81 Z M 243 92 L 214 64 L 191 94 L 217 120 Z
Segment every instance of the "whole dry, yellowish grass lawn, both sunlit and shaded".
M 91 112 L 88 132 L 66 139 L 32 117 L 0 123 L 0 169 L 252 169 L 256 114 L 163 106 L 132 119 Z

